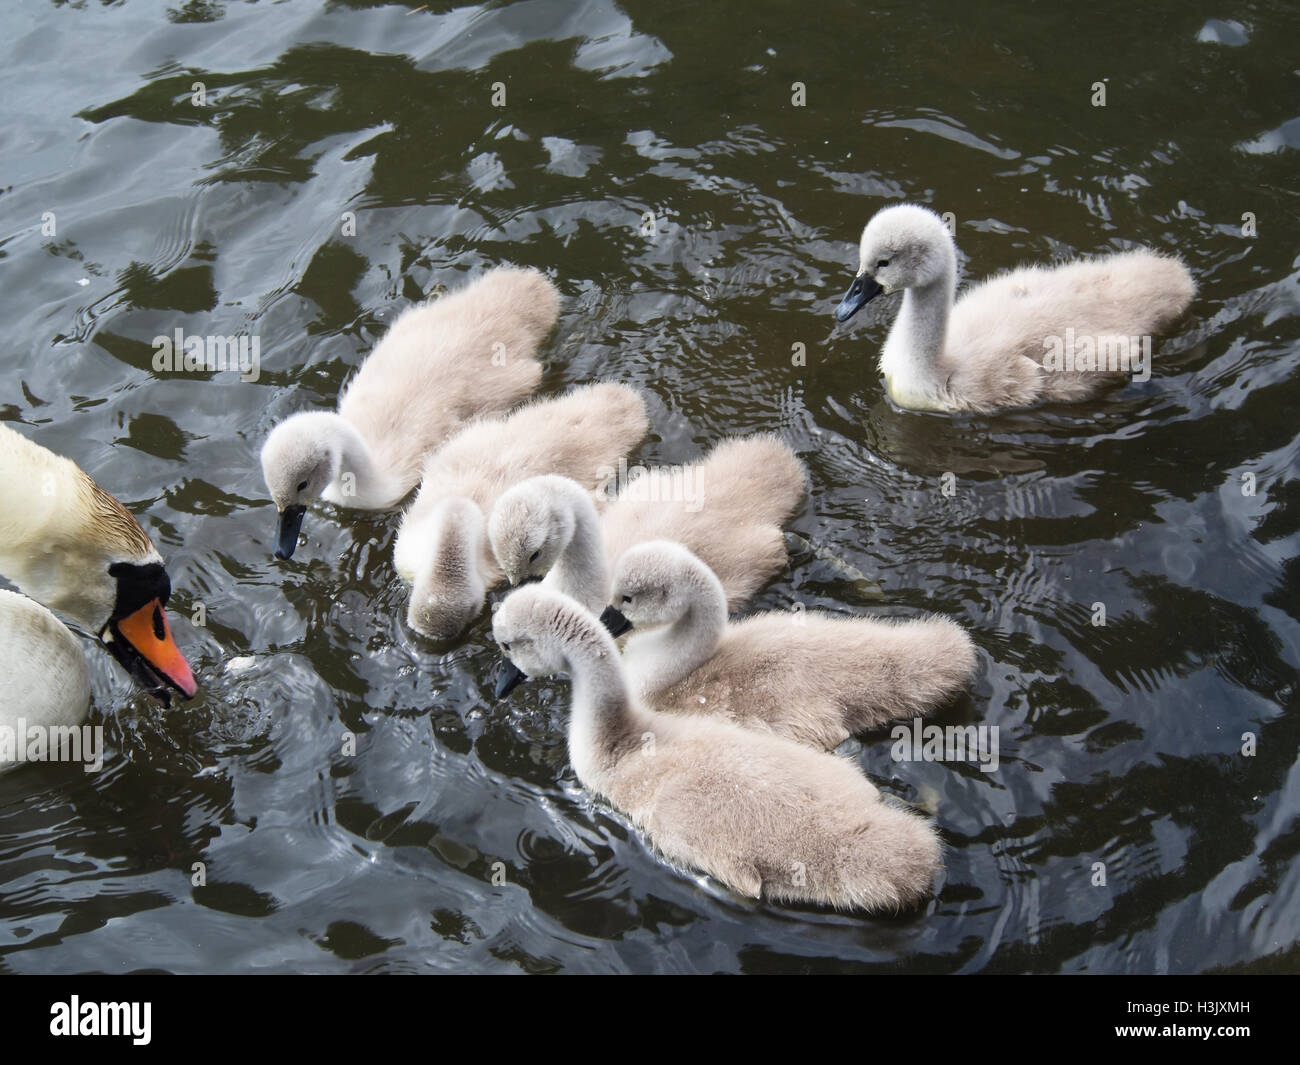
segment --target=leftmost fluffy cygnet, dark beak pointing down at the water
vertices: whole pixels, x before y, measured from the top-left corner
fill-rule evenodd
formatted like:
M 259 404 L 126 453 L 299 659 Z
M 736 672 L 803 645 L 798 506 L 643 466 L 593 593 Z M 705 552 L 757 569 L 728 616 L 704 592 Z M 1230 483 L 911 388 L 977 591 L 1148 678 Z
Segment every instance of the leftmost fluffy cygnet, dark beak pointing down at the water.
M 390 510 L 447 437 L 528 397 L 542 376 L 538 345 L 558 316 L 555 286 L 514 267 L 403 312 L 343 388 L 337 412 L 292 415 L 266 437 L 261 468 L 281 515 L 277 557 L 292 555 L 316 499 Z

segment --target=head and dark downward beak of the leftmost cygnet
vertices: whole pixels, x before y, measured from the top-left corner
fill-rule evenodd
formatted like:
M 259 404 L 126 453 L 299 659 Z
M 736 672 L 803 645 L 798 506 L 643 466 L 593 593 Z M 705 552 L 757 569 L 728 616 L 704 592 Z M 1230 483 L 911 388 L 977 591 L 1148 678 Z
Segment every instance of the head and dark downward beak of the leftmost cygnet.
M 307 411 L 280 423 L 261 446 L 261 476 L 280 511 L 276 558 L 292 558 L 307 507 L 338 473 L 343 455 L 341 421 L 329 411 Z

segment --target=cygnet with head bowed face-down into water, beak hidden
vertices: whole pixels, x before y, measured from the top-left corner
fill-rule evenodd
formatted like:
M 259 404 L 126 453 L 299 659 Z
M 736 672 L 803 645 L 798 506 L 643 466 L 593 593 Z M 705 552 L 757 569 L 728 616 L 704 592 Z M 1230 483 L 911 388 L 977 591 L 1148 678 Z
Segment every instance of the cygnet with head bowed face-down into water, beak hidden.
M 592 489 L 649 428 L 634 389 L 584 385 L 482 419 L 434 451 L 393 550 L 398 572 L 412 584 L 411 627 L 447 640 L 482 610 L 502 577 L 484 524 L 503 492 L 526 477 L 562 473 L 590 502 Z

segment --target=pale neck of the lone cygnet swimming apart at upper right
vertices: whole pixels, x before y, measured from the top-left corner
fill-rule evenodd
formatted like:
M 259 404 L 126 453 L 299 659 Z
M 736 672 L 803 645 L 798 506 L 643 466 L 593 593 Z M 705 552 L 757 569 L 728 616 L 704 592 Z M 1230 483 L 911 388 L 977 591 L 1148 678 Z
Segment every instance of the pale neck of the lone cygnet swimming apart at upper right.
M 904 293 L 902 308 L 889 329 L 880 369 L 894 402 L 913 408 L 942 408 L 946 372 L 944 346 L 957 289 L 957 256 L 949 244 L 940 276 Z

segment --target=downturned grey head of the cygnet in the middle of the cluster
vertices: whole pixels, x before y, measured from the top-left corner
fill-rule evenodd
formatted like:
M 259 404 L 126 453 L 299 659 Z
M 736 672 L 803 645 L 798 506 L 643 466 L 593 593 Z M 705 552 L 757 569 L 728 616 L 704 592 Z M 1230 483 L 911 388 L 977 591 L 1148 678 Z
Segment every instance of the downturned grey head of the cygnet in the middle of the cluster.
M 514 584 L 541 580 L 573 538 L 577 515 L 573 493 L 582 486 L 568 477 L 529 477 L 502 493 L 488 519 L 493 554 Z

